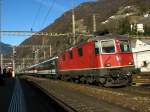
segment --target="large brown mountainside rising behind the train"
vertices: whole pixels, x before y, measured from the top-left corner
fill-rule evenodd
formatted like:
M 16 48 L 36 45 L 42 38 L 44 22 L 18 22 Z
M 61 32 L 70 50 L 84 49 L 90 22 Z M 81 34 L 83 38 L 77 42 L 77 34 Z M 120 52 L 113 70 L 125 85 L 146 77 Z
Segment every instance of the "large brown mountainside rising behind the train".
M 96 19 L 97 32 L 108 30 L 111 33 L 132 33 L 130 24 L 143 23 L 146 34 L 150 35 L 150 0 L 97 0 L 85 2 L 74 9 L 76 33 L 93 32 L 93 15 Z M 72 32 L 72 11 L 65 12 L 42 32 L 68 33 Z M 77 36 L 76 40 L 85 37 Z M 52 55 L 58 55 L 72 46 L 72 36 L 32 36 L 21 45 L 52 45 Z M 36 48 L 35 48 L 36 49 Z M 19 57 L 32 57 L 33 48 L 17 48 Z M 40 48 L 40 56 L 49 57 L 49 48 Z

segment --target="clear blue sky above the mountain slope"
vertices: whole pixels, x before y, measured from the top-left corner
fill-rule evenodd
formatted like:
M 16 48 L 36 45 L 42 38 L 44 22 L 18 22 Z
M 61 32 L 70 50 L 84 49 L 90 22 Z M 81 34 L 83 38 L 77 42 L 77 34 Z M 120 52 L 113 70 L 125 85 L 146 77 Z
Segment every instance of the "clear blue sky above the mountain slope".
M 2 30 L 40 31 L 72 7 L 88 1 L 96 0 L 1 0 Z M 28 37 L 2 35 L 2 42 L 19 45 Z

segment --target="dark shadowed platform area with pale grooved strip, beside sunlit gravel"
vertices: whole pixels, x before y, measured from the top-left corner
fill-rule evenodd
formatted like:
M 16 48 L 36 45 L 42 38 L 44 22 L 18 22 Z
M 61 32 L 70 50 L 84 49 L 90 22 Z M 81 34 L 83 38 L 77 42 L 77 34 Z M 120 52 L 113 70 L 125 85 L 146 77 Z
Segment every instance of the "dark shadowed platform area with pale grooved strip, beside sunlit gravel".
M 7 78 L 0 85 L 0 112 L 66 112 L 32 84 Z

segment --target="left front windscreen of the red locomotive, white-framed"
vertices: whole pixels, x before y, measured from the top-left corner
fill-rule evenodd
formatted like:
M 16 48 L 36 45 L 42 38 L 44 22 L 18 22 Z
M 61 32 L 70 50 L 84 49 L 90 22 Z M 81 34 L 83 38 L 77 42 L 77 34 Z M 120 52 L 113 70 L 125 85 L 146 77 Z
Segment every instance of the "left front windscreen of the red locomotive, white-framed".
M 101 41 L 102 52 L 103 53 L 114 53 L 115 46 L 113 40 Z

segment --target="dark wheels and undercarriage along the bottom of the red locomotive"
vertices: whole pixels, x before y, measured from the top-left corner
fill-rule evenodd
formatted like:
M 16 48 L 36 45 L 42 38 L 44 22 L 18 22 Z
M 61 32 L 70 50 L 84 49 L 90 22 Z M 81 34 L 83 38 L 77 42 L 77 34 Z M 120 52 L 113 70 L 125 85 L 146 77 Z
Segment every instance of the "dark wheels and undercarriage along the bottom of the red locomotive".
M 38 76 L 38 75 L 37 75 Z M 118 78 L 118 77 L 111 77 L 110 75 L 105 76 L 93 76 L 93 75 L 57 75 L 49 76 L 52 79 L 60 79 L 63 81 L 70 81 L 75 83 L 82 83 L 82 84 L 90 84 L 90 85 L 97 85 L 97 86 L 104 86 L 104 87 L 111 87 L 111 86 L 123 86 L 127 85 L 127 83 L 132 83 L 132 80 L 129 78 Z

